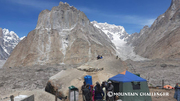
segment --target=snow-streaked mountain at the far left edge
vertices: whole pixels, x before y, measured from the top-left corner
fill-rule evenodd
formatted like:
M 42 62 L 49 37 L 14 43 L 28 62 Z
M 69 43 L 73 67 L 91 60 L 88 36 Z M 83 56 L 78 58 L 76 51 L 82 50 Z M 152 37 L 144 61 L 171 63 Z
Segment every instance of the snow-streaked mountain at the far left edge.
M 0 28 L 0 60 L 6 60 L 20 40 L 14 31 Z

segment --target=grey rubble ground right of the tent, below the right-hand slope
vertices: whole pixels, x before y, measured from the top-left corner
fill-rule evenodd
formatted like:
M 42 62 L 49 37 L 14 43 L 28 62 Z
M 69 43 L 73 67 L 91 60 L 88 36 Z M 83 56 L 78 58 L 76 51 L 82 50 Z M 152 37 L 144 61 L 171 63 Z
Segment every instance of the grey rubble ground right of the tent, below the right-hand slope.
M 180 82 L 179 60 L 127 61 L 127 66 L 132 72 L 140 73 L 152 86 L 161 86 L 162 80 L 164 85 L 171 86 Z

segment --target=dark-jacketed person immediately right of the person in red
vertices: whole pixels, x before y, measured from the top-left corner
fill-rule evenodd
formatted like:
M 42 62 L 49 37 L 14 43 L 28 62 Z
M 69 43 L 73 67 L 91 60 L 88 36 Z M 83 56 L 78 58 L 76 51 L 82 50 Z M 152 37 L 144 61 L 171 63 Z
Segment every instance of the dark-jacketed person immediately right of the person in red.
M 104 96 L 104 92 L 103 92 L 99 82 L 96 82 L 95 96 L 94 96 L 95 101 L 102 101 L 103 96 Z

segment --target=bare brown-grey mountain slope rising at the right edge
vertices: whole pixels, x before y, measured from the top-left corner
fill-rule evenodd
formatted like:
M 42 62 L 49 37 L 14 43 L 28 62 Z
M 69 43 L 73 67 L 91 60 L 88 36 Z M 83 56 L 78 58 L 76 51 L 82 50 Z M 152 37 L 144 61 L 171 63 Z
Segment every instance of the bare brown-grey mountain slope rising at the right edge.
M 128 43 L 135 52 L 146 58 L 180 58 L 180 0 L 172 0 L 168 10 L 150 28 L 145 26 Z

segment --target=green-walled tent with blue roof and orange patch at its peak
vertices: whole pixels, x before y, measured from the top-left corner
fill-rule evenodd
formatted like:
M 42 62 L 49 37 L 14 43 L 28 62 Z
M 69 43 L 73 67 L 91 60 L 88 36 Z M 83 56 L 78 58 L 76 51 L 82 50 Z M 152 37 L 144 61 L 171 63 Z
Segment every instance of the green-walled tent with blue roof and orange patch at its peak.
M 129 71 L 117 74 L 109 81 L 112 81 L 114 93 L 120 93 L 119 99 L 122 101 L 152 101 L 151 96 L 141 96 L 149 93 L 147 80 Z

